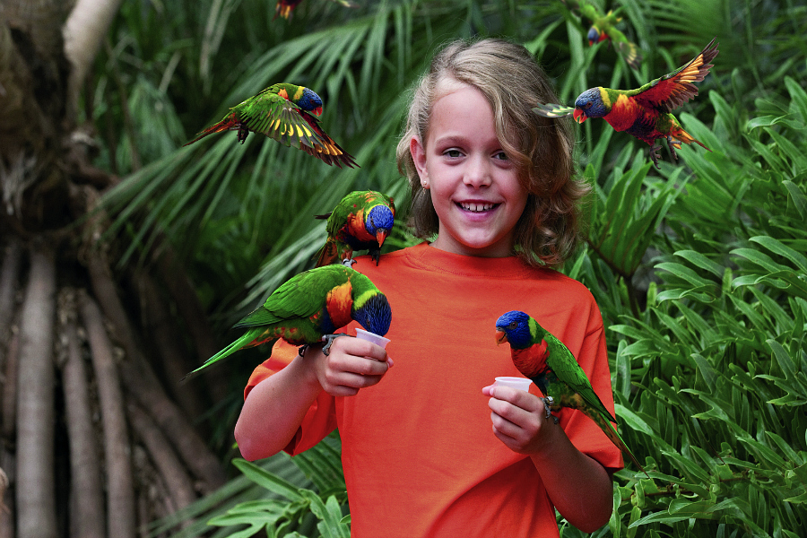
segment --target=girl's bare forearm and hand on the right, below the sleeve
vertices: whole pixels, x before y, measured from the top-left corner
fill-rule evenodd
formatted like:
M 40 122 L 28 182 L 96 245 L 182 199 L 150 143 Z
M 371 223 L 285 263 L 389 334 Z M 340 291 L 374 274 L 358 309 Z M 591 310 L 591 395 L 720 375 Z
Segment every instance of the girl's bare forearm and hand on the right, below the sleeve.
M 486 386 L 493 433 L 511 450 L 530 456 L 552 504 L 572 525 L 593 533 L 613 510 L 611 475 L 575 447 L 566 432 L 545 418 L 538 396 L 506 386 Z

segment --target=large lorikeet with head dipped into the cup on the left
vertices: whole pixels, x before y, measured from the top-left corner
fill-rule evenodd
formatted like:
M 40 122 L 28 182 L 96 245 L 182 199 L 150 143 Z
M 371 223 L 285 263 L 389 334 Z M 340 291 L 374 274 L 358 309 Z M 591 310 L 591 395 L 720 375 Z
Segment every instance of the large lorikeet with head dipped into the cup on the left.
M 325 265 L 299 273 L 247 314 L 236 329 L 247 329 L 238 340 L 187 374 L 195 376 L 234 351 L 282 338 L 292 345 L 325 342 L 328 349 L 337 330 L 356 320 L 365 330 L 383 336 L 392 311 L 386 296 L 369 278 L 344 265 Z

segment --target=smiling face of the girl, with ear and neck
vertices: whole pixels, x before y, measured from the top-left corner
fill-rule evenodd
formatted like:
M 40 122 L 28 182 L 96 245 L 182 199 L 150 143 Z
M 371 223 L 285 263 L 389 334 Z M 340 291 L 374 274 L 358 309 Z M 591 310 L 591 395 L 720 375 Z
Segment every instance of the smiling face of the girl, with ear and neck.
M 465 256 L 511 256 L 527 192 L 482 92 L 451 81 L 434 103 L 425 145 L 412 137 L 410 150 L 438 214 L 432 246 Z

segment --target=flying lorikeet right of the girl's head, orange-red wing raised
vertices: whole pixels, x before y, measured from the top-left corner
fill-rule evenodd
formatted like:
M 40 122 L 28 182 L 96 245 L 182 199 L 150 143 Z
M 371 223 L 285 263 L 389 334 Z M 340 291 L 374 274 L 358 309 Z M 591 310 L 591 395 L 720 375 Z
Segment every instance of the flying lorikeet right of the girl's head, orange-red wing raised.
M 659 168 L 660 147 L 655 144 L 658 138 L 667 140 L 667 147 L 676 161 L 678 155 L 675 154 L 675 149 L 681 149 L 681 143 L 694 142 L 711 152 L 703 143 L 684 131 L 671 112 L 698 95 L 698 88 L 692 82 L 704 79 L 713 66 L 709 62 L 715 56 L 717 43 L 712 39 L 686 65 L 655 81 L 647 82 L 636 90 L 612 90 L 598 86 L 577 96 L 574 108 L 539 104 L 533 111 L 544 117 L 573 114 L 577 123 L 583 123 L 588 117 L 602 117 L 617 131 L 626 131 L 650 144 L 650 158 L 655 168 Z

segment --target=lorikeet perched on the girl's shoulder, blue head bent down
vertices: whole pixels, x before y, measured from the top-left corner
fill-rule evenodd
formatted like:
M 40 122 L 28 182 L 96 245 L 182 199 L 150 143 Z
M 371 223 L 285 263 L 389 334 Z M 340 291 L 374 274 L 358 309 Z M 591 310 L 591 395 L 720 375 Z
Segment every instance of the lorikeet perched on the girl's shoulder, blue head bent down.
M 378 265 L 381 245 L 395 224 L 395 203 L 376 191 L 353 191 L 334 211 L 317 215 L 317 219 L 328 220 L 328 239 L 319 250 L 317 267 L 348 262 L 354 250 L 364 249 Z

